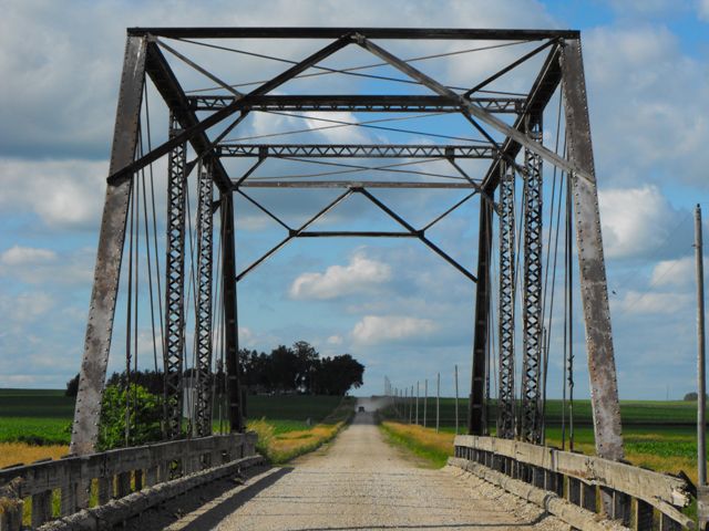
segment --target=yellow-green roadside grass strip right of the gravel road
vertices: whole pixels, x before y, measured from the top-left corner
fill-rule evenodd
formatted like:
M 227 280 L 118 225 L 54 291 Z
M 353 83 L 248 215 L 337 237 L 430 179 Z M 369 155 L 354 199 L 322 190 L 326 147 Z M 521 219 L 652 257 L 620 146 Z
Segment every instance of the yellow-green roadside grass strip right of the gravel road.
M 448 458 L 453 455 L 454 434 L 436 434 L 432 428 L 391 420 L 384 420 L 379 427 L 389 442 L 408 449 L 435 468 L 443 467 Z

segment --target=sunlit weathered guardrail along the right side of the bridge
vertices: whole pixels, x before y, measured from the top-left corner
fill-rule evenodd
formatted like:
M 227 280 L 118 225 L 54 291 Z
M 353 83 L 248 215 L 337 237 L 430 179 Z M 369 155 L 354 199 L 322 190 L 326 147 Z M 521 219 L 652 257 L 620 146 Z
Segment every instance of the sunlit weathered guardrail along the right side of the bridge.
M 695 527 L 679 510 L 691 501 L 689 486 L 681 478 L 596 456 L 495 437 L 459 435 L 454 445 L 451 465 L 467 469 L 467 464 L 482 465 L 499 475 L 554 492 L 558 499 L 590 513 L 605 514 L 625 528 L 651 530 L 656 513 L 661 531 Z M 548 496 L 543 502 L 548 506 Z

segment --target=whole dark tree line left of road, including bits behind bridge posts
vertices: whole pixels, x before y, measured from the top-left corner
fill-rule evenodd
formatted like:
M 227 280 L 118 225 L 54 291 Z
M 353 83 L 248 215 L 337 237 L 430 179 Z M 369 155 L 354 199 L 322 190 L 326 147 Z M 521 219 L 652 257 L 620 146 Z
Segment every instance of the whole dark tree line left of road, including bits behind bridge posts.
M 242 384 L 249 393 L 300 393 L 308 395 L 345 395 L 350 388 L 362 385 L 364 365 L 349 354 L 320 357 L 320 354 L 305 341 L 288 347 L 279 345 L 269 354 L 243 348 Z M 194 368 L 185 371 L 185 377 L 194 376 Z M 209 376 L 217 388 L 224 388 L 225 374 L 220 365 L 217 373 Z M 125 388 L 127 384 L 138 385 L 147 393 L 162 396 L 163 373 L 161 371 L 137 371 L 113 373 L 106 386 Z M 79 375 L 66 382 L 66 396 L 76 396 Z

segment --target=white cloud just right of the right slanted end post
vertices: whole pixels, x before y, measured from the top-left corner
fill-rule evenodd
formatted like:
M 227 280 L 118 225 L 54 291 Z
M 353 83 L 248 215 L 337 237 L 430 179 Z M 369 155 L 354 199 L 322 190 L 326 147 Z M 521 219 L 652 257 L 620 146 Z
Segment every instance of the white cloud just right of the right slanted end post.
M 646 257 L 662 249 L 681 220 L 656 186 L 600 189 L 598 199 L 608 258 Z

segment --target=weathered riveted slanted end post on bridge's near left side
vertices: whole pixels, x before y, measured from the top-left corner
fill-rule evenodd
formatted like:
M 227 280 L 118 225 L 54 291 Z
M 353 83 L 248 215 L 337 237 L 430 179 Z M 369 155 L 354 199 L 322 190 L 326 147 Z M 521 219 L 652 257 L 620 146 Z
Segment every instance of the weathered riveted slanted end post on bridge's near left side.
M 135 158 L 145 83 L 145 49 L 144 38 L 127 38 L 111 148 L 110 175 L 127 166 Z M 76 455 L 91 454 L 99 436 L 101 399 L 113 334 L 131 187 L 132 177 L 109 184 L 103 204 L 93 291 L 69 450 Z

